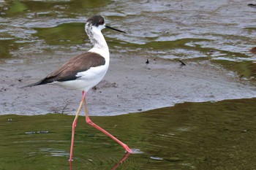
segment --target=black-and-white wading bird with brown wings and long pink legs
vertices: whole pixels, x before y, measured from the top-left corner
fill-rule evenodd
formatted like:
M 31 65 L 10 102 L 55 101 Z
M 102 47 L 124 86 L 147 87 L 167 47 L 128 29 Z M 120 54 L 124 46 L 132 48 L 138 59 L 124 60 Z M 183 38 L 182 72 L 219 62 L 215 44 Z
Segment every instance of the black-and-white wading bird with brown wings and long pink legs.
M 72 138 L 69 161 L 72 161 L 75 126 L 83 104 L 86 112 L 86 123 L 89 123 L 89 125 L 92 125 L 94 128 L 102 131 L 107 136 L 110 136 L 110 138 L 112 138 L 118 144 L 121 144 L 121 146 L 124 147 L 127 152 L 132 152 L 127 144 L 119 141 L 116 139 L 116 137 L 112 136 L 103 128 L 100 128 L 98 125 L 93 123 L 89 118 L 88 110 L 86 107 L 86 93 L 95 85 L 97 85 L 108 71 L 110 54 L 107 42 L 105 41 L 105 38 L 101 32 L 103 28 L 110 28 L 115 31 L 125 33 L 124 31 L 120 31 L 116 28 L 106 26 L 105 18 L 103 18 L 101 15 L 92 16 L 86 21 L 85 29 L 94 47 L 86 53 L 82 53 L 73 58 L 70 58 L 69 61 L 64 63 L 63 66 L 50 73 L 47 77 L 40 80 L 39 82 L 24 86 L 31 87 L 34 85 L 53 84 L 60 85 L 67 89 L 82 90 L 82 100 L 80 101 L 78 111 L 76 112 L 75 119 L 72 123 Z

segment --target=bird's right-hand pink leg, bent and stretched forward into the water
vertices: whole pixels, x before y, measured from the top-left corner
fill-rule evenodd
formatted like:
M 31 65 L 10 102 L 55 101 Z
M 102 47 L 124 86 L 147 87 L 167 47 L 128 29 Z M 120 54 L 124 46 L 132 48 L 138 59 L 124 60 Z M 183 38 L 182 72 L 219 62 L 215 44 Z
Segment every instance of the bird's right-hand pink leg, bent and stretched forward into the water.
M 91 119 L 89 118 L 88 115 L 88 110 L 87 110 L 87 106 L 86 106 L 86 98 L 83 98 L 83 103 L 85 106 L 85 111 L 86 111 L 86 123 L 88 123 L 89 125 L 93 126 L 94 128 L 97 128 L 99 131 L 102 131 L 104 134 L 106 134 L 107 136 L 109 136 L 111 139 L 113 139 L 114 141 L 116 141 L 118 144 L 120 144 L 122 147 L 124 147 L 124 150 L 126 150 L 127 152 L 132 152 L 131 149 L 129 149 L 129 147 L 127 146 L 127 144 L 124 144 L 123 142 L 119 141 L 118 139 L 116 139 L 116 137 L 114 137 L 113 135 L 111 135 L 110 133 L 108 133 L 108 131 L 105 131 L 103 128 L 100 128 L 99 125 L 96 125 L 95 123 L 93 123 L 91 121 Z

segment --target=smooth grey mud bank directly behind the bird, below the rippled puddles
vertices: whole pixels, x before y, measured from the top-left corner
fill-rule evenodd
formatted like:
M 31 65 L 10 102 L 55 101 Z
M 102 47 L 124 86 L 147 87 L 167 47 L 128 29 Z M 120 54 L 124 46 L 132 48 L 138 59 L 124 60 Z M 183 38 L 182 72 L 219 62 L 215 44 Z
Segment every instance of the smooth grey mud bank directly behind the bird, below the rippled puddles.
M 66 54 L 67 55 L 67 54 Z M 37 115 L 49 112 L 75 114 L 81 92 L 55 85 L 19 88 L 35 82 L 70 56 L 37 64 L 6 63 L 1 68 L 0 113 Z M 209 61 L 178 61 L 112 54 L 105 79 L 87 96 L 90 115 L 119 115 L 173 106 L 184 101 L 219 101 L 256 97 L 254 85 Z M 247 82 L 248 83 L 248 82 Z M 84 114 L 84 113 L 83 113 Z

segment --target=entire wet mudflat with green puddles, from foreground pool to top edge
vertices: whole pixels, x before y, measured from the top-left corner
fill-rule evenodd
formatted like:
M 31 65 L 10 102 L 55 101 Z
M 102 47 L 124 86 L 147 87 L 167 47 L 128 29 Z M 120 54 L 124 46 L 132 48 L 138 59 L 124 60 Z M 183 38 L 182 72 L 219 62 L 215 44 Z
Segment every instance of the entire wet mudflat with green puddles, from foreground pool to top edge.
M 80 91 L 19 87 L 89 50 L 84 22 L 95 14 L 127 34 L 102 31 L 110 47 L 110 70 L 88 93 L 91 115 L 254 98 L 256 64 L 249 50 L 255 47 L 255 8 L 249 3 L 2 1 L 0 114 L 75 113 Z

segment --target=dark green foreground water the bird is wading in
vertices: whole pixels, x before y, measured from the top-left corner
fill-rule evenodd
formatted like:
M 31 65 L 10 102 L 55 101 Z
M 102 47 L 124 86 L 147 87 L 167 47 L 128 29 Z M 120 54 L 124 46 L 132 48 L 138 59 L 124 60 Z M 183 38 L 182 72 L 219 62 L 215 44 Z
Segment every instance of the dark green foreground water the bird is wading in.
M 143 151 L 117 169 L 255 169 L 255 102 L 184 103 L 91 120 Z M 0 169 L 69 169 L 73 118 L 1 116 Z M 123 156 L 122 147 L 79 117 L 72 169 L 112 169 Z

